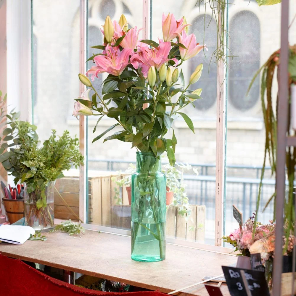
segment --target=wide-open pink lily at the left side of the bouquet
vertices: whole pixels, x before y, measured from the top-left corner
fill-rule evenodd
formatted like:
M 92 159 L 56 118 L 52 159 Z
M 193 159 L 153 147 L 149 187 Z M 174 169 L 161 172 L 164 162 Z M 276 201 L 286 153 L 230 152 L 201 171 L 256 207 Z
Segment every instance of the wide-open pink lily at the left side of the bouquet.
M 96 66 L 92 66 L 86 75 L 91 75 L 91 80 L 98 77 L 99 73 L 107 72 L 114 76 L 119 76 L 128 64 L 132 64 L 138 69 L 138 62 L 129 62 L 130 55 L 133 54 L 133 49 L 124 48 L 122 51 L 119 48 L 106 46 L 107 55 L 99 55 L 94 57 Z

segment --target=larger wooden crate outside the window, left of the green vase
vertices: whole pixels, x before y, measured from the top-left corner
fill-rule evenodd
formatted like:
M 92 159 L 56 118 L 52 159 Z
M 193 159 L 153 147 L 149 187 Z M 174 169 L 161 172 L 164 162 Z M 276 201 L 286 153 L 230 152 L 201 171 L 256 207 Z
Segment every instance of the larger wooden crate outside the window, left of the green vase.
M 88 222 L 96 225 L 111 226 L 112 205 L 115 204 L 114 187 L 116 178 L 122 178 L 124 174 L 112 175 L 110 172 L 97 172 L 88 177 Z M 112 181 L 113 177 L 115 180 Z M 58 219 L 71 219 L 77 221 L 79 216 L 79 177 L 65 176 L 56 181 L 54 191 L 54 216 Z M 120 197 L 123 204 L 128 204 L 125 188 L 121 189 Z M 65 202 L 59 196 L 63 197 Z

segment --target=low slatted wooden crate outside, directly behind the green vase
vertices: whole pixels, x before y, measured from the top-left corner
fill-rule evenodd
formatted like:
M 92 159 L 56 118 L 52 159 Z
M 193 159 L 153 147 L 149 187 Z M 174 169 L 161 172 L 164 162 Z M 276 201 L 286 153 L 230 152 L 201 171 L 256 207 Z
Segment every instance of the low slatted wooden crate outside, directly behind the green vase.
M 193 242 L 205 241 L 205 205 L 191 205 L 191 214 L 178 215 L 178 207 L 169 206 L 166 213 L 166 236 Z M 112 206 L 111 226 L 131 228 L 131 206 Z

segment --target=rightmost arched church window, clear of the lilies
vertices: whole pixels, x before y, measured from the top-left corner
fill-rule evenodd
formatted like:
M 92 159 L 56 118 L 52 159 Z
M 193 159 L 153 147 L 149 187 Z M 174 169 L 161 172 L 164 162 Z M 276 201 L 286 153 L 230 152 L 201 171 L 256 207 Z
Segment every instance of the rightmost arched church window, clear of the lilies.
M 246 96 L 252 77 L 260 67 L 260 23 L 250 11 L 234 15 L 229 25 L 229 100 L 241 111 L 252 108 L 259 98 L 259 77 Z

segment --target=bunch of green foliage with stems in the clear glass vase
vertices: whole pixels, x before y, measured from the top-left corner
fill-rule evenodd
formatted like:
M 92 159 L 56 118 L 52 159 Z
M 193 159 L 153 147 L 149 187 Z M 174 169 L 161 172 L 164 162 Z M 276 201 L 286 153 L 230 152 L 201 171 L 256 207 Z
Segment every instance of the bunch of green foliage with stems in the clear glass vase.
M 20 113 L 6 115 L 7 128 L 0 138 L 0 162 L 14 176 L 15 184 L 26 183 L 30 210 L 27 223 L 41 219 L 42 224 L 53 226 L 51 208 L 47 205 L 46 194 L 49 182 L 62 178 L 63 171 L 72 165 L 76 168 L 83 163 L 79 152 L 78 138 L 72 139 L 68 131 L 57 138 L 56 131 L 39 147 L 37 127 L 29 122 L 18 120 Z

